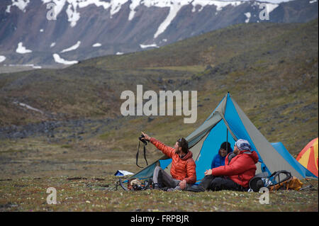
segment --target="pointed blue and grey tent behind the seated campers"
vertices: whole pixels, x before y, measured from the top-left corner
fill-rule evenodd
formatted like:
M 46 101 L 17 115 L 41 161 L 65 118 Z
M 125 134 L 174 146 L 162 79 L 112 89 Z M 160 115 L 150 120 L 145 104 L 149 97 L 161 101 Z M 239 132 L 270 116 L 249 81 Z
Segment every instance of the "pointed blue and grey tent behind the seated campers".
M 230 145 L 235 145 L 238 139 L 248 140 L 252 149 L 257 152 L 259 162 L 256 174 L 265 172 L 270 175 L 274 171 L 286 170 L 298 179 L 316 178 L 289 154 L 281 142 L 269 143 L 228 93 L 204 123 L 186 137 L 196 162 L 198 181 L 203 179 L 206 169 L 210 169 L 220 144 L 228 141 Z M 158 165 L 169 172 L 171 162 L 172 159 L 163 156 L 131 176 L 130 179 L 150 178 L 155 166 Z

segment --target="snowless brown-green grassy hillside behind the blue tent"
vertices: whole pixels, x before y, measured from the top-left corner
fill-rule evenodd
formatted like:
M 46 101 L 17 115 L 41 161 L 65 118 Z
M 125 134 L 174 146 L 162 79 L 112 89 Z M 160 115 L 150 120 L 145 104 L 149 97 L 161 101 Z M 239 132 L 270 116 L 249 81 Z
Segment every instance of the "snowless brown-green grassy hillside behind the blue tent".
M 197 90 L 196 123 L 184 124 L 184 115 L 123 117 L 121 92 L 136 93 L 138 84 L 144 91 Z M 36 127 L 43 120 L 112 118 L 94 135 L 101 135 L 108 148 L 127 150 L 140 130 L 170 143 L 200 125 L 227 91 L 269 141 L 300 151 L 318 136 L 318 20 L 240 24 L 66 69 L 1 74 L 0 124 L 6 126 L 1 136 L 20 130 L 17 125 L 27 131 L 30 123 Z M 58 137 L 59 131 L 51 132 Z

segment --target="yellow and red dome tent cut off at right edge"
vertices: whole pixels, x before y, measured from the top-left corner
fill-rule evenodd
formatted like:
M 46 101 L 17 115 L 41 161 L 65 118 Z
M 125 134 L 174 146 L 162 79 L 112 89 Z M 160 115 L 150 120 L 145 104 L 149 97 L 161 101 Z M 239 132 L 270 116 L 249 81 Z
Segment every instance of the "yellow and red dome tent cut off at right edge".
M 301 150 L 296 160 L 318 177 L 318 137 Z

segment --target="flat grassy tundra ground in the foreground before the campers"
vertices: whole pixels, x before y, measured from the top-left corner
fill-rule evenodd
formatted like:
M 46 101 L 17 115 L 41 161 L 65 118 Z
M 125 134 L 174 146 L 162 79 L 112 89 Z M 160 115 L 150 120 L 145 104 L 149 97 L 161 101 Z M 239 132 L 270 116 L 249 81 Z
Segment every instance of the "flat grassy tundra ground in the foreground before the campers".
M 318 211 L 318 181 L 312 189 L 269 193 L 269 204 L 259 203 L 261 193 L 238 191 L 123 191 L 116 176 L 47 177 L 0 181 L 1 211 Z M 305 182 L 305 181 L 303 181 Z M 306 182 L 305 185 L 309 185 Z M 57 204 L 47 204 L 47 188 L 57 191 Z M 145 205 L 147 203 L 147 205 Z

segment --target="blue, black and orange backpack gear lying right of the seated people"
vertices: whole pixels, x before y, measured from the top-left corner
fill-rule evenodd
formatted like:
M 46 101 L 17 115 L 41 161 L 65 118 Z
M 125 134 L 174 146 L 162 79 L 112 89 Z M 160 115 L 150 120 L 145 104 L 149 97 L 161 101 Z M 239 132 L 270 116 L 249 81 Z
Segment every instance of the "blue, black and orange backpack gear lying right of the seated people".
M 270 176 L 266 172 L 256 174 L 250 179 L 250 191 L 258 192 L 260 188 L 269 188 L 269 191 L 277 191 L 279 189 L 293 189 L 299 191 L 303 183 L 286 170 L 274 171 Z M 282 177 L 284 176 L 284 177 Z

